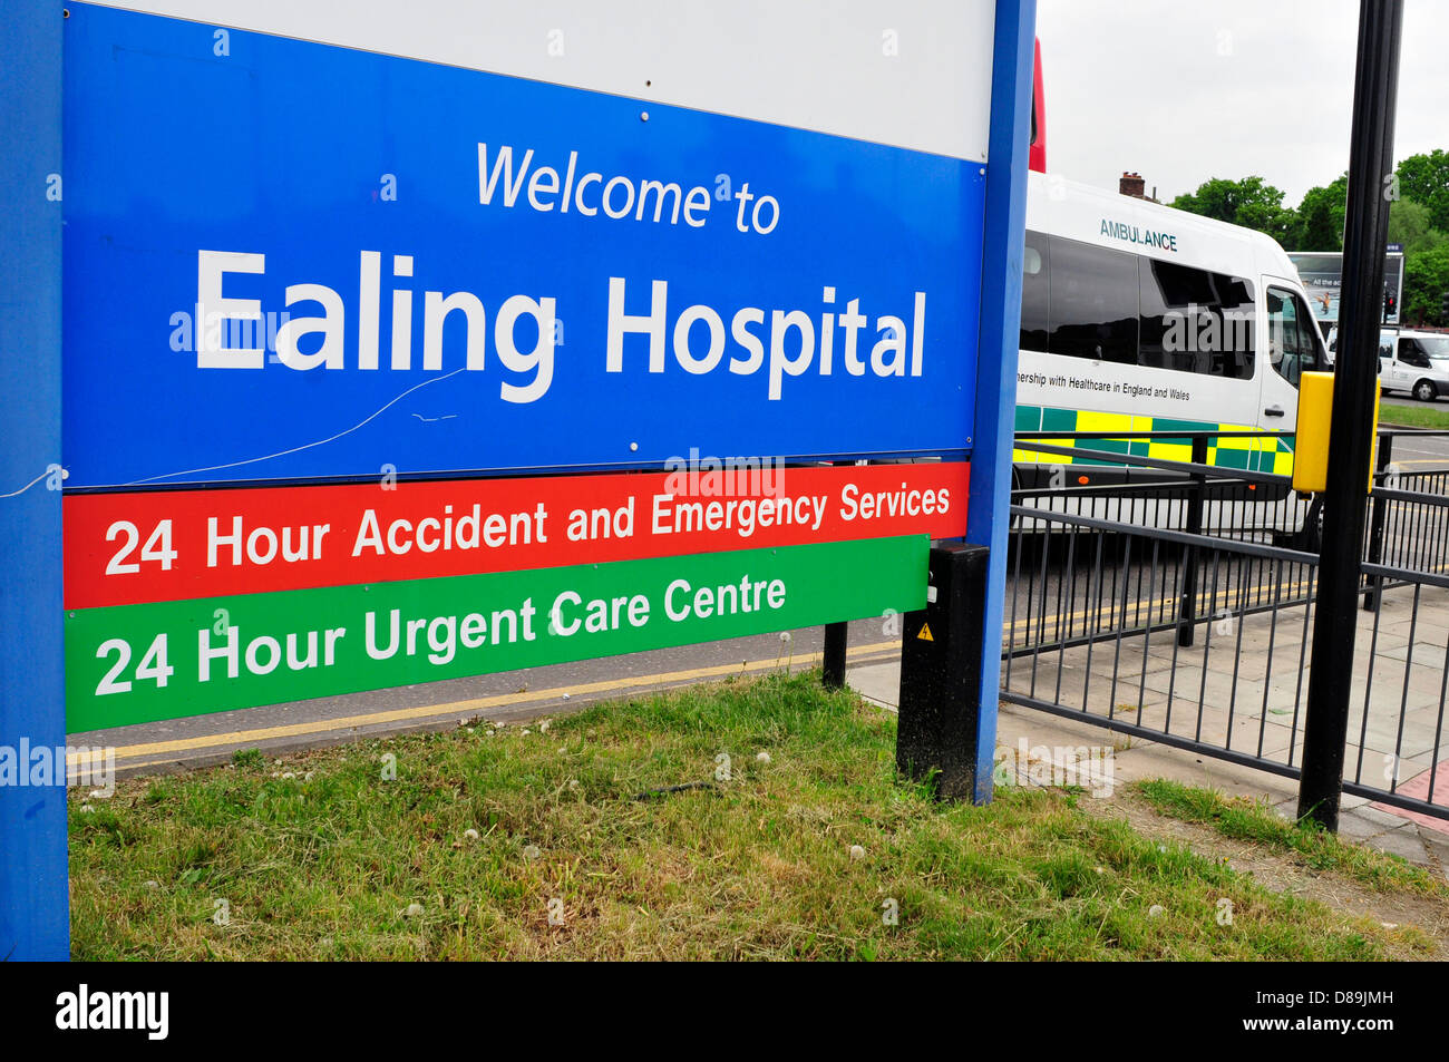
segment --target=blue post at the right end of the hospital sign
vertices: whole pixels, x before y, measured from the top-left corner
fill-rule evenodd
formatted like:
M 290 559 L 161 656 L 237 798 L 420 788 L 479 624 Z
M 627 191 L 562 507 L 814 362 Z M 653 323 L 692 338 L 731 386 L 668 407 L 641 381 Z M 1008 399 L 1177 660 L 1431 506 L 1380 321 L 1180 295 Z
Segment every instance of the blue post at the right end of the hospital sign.
M 991 135 L 981 255 L 981 333 L 966 542 L 991 549 L 981 617 L 980 711 L 974 801 L 991 800 L 1001 685 L 1001 614 L 1016 430 L 1016 362 L 1022 330 L 1022 256 L 1030 154 L 1036 0 L 997 0 L 991 59 Z

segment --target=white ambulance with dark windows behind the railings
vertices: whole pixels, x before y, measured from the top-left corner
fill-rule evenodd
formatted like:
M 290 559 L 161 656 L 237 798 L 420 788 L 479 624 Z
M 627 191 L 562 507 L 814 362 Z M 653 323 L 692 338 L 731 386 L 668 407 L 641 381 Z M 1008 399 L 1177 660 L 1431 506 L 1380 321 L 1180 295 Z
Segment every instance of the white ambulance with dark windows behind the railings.
M 1295 427 L 1298 378 L 1324 368 L 1326 351 L 1271 238 L 1036 172 L 1026 229 L 1019 432 Z M 1191 458 L 1181 440 L 1080 445 Z M 1014 459 L 1022 485 L 1064 461 L 1074 484 L 1135 478 L 1020 448 Z M 1220 439 L 1208 461 L 1285 475 L 1293 439 Z

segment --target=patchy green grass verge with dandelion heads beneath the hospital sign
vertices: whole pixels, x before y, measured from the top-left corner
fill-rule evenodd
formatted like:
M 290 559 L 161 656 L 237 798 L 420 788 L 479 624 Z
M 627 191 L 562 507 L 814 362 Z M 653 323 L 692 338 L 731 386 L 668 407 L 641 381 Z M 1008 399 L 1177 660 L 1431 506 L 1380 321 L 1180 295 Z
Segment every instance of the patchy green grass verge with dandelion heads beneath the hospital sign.
M 893 716 L 823 691 L 813 672 L 616 701 L 546 727 L 478 724 L 284 761 L 252 752 L 133 779 L 91 810 L 72 803 L 74 955 L 1403 950 L 1377 923 L 1088 814 L 1080 793 L 1007 788 L 988 807 L 936 804 L 895 778 L 894 740 Z M 385 756 L 396 778 L 384 778 Z

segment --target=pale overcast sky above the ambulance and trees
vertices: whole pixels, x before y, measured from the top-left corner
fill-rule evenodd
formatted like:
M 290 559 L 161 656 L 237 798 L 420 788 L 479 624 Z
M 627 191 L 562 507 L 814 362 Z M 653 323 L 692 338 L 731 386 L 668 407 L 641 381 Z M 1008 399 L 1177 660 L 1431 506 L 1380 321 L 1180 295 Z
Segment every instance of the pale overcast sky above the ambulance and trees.
M 1356 0 L 1037 0 L 1046 168 L 1168 201 L 1258 174 L 1298 206 L 1349 164 Z M 1449 1 L 1406 0 L 1394 158 L 1449 149 Z

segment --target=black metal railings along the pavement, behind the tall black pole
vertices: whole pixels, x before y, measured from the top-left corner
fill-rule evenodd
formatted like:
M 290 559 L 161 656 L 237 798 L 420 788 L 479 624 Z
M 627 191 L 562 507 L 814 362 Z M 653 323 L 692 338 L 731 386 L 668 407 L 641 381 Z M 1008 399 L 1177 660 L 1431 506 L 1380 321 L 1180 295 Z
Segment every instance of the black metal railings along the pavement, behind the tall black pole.
M 1345 791 L 1443 819 L 1449 469 L 1406 474 L 1395 435 L 1366 498 Z M 1091 438 L 1142 436 L 1023 435 L 1017 448 L 1111 456 L 1156 481 L 1104 484 L 1106 467 L 1088 465 L 1088 484 L 1072 484 L 1074 462 L 1013 491 L 1003 700 L 1297 777 L 1317 520 L 1332 513 L 1287 477 L 1206 464 L 1213 433 L 1190 435 L 1190 462 Z

